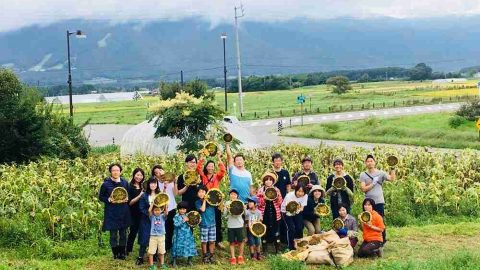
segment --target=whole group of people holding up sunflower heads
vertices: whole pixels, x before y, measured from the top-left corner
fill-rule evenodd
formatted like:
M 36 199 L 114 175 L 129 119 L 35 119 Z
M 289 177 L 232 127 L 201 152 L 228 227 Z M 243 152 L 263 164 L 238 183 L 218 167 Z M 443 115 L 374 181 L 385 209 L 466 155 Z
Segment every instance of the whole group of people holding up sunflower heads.
M 126 259 L 138 238 L 137 265 L 144 263 L 147 250 L 151 269 L 156 268 L 155 260 L 166 269 L 167 252 L 170 254 L 172 266 L 176 267 L 178 258 L 187 258 L 187 263 L 192 265 L 197 249 L 187 213 L 194 210 L 201 216 L 199 229 L 203 263 L 213 263 L 216 248 L 225 248 L 222 218 L 226 219 L 230 264 L 245 263 L 245 243 L 250 251 L 250 259 L 261 260 L 262 252 L 266 252 L 268 245 L 273 245 L 275 253 L 284 247 L 295 249 L 294 240 L 303 237 L 305 228 L 308 235 L 322 233 L 320 217 L 315 213 L 315 207 L 324 204 L 327 197 L 332 218 L 341 219 L 344 224 L 337 233 L 340 237 L 349 237 L 350 243 L 355 247 L 359 229 L 357 220 L 351 213 L 355 183 L 352 177 L 344 172 L 341 159 L 334 160 L 334 172 L 326 179 L 324 189 L 313 170 L 311 158 L 303 158 L 302 170 L 291 178 L 290 173 L 282 166 L 282 155 L 275 153 L 271 159 L 273 169 L 262 176 L 261 186 L 255 189 L 252 175 L 245 168 L 244 156 L 232 155 L 229 143 L 226 143 L 225 149 L 228 168 L 222 162 L 220 151 L 217 153 L 218 164 L 213 160 L 206 160 L 202 152 L 199 160 L 194 155 L 186 156 L 185 170 L 196 170 L 201 178 L 201 181 L 195 184 L 186 184 L 183 173 L 175 181 L 164 181 L 162 176 L 165 171 L 160 165 L 153 166 L 148 179 L 141 168 L 136 168 L 132 179 L 127 182 L 121 177 L 122 166 L 110 165 L 110 177 L 104 180 L 99 198 L 105 204 L 103 230 L 110 232 L 114 259 Z M 366 171 L 361 173 L 359 180 L 360 189 L 365 193 L 363 211 L 369 212 L 371 219 L 364 222 L 359 217 L 363 242 L 358 249 L 358 256 L 381 256 L 386 242 L 382 185 L 385 181 L 395 179 L 395 170 L 391 169 L 389 173 L 377 170 L 372 155 L 366 157 L 365 165 Z M 227 199 L 219 206 L 210 205 L 206 199 L 208 190 L 219 188 L 227 172 L 230 187 Z M 301 176 L 308 176 L 309 183 L 298 181 Z M 333 181 L 337 177 L 343 177 L 346 185 L 335 187 Z M 144 183 L 145 181 L 147 183 Z M 114 201 L 111 194 L 116 187 L 128 190 L 128 199 Z M 265 195 L 265 191 L 271 191 L 271 188 L 277 193 L 273 199 Z M 168 195 L 168 204 L 157 207 L 153 201 L 162 192 Z M 177 196 L 181 196 L 178 204 Z M 240 215 L 229 211 L 230 204 L 236 200 L 245 205 L 245 210 Z M 291 201 L 300 205 L 295 213 L 287 213 L 286 206 Z M 250 226 L 255 222 L 261 222 L 266 227 L 261 238 L 250 231 Z

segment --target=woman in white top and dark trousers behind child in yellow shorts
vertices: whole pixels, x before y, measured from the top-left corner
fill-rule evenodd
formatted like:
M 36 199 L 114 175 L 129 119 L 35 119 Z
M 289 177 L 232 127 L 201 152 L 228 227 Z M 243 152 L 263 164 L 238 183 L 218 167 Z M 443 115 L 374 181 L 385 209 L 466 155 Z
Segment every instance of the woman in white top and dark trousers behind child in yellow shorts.
M 168 195 L 168 215 L 167 220 L 165 221 L 165 249 L 168 251 L 172 248 L 173 240 L 173 218 L 177 212 L 177 202 L 175 201 L 175 196 L 178 195 L 177 183 L 172 181 L 170 183 L 165 183 L 160 180 L 161 176 L 165 174 L 162 166 L 155 165 L 152 168 L 152 179 L 156 179 L 158 182 L 158 188 L 160 192 L 167 193 Z

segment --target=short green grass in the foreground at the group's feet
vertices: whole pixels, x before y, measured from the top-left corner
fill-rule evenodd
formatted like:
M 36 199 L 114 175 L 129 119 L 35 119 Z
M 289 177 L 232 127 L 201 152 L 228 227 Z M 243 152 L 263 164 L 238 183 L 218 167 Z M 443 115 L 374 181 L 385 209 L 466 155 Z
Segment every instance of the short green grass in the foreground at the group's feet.
M 457 224 L 389 227 L 389 242 L 382 259 L 355 258 L 347 269 L 479 269 L 480 230 L 478 220 Z M 104 235 L 105 243 L 108 243 Z M 38 258 L 35 248 L 0 248 L 0 269 L 146 269 L 134 265 L 134 256 L 127 261 L 114 261 L 108 247 L 96 241 L 79 240 L 55 244 L 55 257 Z M 195 269 L 226 268 L 227 253 L 217 252 L 217 263 L 202 265 L 198 256 Z M 328 266 L 304 266 L 270 256 L 261 262 L 247 261 L 238 269 L 334 269 Z M 179 269 L 188 269 L 179 267 Z M 191 268 L 190 268 L 191 269 Z

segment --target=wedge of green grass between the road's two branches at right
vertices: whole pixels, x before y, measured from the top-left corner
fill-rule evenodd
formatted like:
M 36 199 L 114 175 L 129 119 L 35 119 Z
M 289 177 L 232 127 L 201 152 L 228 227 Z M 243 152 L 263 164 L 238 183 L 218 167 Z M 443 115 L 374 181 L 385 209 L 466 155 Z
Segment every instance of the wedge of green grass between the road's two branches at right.
M 451 128 L 448 120 L 452 115 L 451 113 L 435 113 L 312 124 L 286 129 L 282 132 L 282 135 L 441 148 L 480 149 L 475 123 L 467 121 L 456 129 Z

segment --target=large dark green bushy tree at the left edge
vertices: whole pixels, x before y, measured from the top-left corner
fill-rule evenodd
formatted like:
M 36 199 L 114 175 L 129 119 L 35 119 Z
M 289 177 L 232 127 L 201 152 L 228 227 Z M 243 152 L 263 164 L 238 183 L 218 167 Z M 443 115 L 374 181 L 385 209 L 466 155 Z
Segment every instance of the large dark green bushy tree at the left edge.
M 52 106 L 37 89 L 24 87 L 11 71 L 0 70 L 0 162 L 88 154 L 82 126 L 54 113 Z

